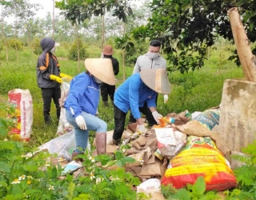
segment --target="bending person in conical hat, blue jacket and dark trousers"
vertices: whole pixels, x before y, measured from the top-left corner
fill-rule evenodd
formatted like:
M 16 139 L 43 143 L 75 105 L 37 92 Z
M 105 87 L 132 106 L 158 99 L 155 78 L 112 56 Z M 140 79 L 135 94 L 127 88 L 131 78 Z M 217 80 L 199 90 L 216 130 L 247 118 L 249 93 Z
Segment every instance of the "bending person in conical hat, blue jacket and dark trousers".
M 142 69 L 118 87 L 114 93 L 114 145 L 118 145 L 122 138 L 129 110 L 138 122 L 138 131 L 141 133 L 146 132 L 146 127 L 143 125 L 140 112 L 149 114 L 150 110 L 154 120 L 159 123 L 158 118 L 162 118 L 162 114 L 156 110 L 157 94 L 170 94 L 170 82 L 164 69 Z M 145 102 L 149 109 L 144 108 Z

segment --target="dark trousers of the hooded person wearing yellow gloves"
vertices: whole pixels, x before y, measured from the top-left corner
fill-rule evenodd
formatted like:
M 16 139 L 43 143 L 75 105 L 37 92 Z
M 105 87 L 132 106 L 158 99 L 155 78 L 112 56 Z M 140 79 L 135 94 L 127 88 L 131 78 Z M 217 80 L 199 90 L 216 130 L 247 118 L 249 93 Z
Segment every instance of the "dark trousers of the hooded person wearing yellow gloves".
M 50 104 L 51 99 L 54 100 L 54 104 L 56 107 L 57 118 L 59 119 L 61 114 L 61 108 L 59 106 L 58 99 L 61 98 L 61 89 L 60 88 L 41 88 L 42 90 L 42 100 L 43 100 L 43 118 L 46 124 L 52 122 L 50 118 Z

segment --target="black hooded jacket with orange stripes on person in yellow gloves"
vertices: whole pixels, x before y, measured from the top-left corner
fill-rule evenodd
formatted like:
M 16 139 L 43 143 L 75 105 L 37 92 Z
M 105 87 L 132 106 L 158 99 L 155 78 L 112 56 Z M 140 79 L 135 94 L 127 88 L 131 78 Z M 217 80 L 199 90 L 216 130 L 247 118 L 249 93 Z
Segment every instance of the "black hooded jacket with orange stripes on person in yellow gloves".
M 59 76 L 60 69 L 56 56 L 50 52 L 55 42 L 51 38 L 43 38 L 40 42 L 42 54 L 38 58 L 37 81 L 40 88 L 58 88 L 61 84 L 50 80 L 50 74 Z

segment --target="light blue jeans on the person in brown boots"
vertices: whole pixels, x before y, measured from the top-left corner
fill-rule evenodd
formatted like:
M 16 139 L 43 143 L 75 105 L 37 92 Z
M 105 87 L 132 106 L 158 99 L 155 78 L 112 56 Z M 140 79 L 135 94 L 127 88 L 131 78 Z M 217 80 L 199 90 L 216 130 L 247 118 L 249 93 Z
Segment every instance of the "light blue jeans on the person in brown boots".
M 86 121 L 86 130 L 82 130 L 79 128 L 77 122 L 75 122 L 75 118 L 70 113 L 70 110 L 66 110 L 66 120 L 72 126 L 74 126 L 74 135 L 76 142 L 76 150 L 77 153 L 82 153 L 82 151 L 86 150 L 89 130 L 96 130 L 96 133 L 106 133 L 107 124 L 102 119 L 97 118 L 92 114 L 88 114 L 86 112 L 82 112 L 82 117 Z

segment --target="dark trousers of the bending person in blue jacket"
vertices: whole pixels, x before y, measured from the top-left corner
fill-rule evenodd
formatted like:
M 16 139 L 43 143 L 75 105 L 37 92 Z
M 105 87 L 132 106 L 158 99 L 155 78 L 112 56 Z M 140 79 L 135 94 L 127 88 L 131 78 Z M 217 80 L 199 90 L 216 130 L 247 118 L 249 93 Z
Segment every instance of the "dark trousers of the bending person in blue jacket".
M 145 114 L 146 116 L 150 116 L 151 111 L 147 107 L 139 107 L 138 110 L 142 112 L 142 114 Z M 150 112 L 150 114 L 149 114 Z M 114 134 L 113 138 L 115 140 L 119 140 L 122 138 L 122 133 L 125 130 L 126 125 L 126 114 L 122 110 L 120 110 L 117 106 L 114 105 Z M 151 114 L 153 117 L 153 115 Z M 136 122 L 136 119 L 134 119 Z M 154 118 L 150 118 L 150 122 L 153 122 Z M 155 121 L 154 121 L 155 122 Z M 157 124 L 157 122 L 155 122 Z M 153 125 L 152 125 L 153 126 Z

